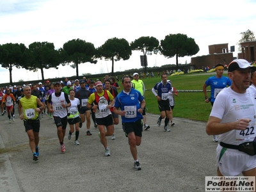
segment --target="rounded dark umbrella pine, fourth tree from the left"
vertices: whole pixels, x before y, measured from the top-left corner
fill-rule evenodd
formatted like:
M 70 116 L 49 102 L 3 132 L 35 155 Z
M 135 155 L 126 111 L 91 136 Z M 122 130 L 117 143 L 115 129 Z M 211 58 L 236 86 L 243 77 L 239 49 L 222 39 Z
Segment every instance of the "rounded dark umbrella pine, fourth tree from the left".
M 124 38 L 109 38 L 97 49 L 97 58 L 105 58 L 112 61 L 111 76 L 114 76 L 114 60 L 129 60 L 132 54 L 129 42 Z

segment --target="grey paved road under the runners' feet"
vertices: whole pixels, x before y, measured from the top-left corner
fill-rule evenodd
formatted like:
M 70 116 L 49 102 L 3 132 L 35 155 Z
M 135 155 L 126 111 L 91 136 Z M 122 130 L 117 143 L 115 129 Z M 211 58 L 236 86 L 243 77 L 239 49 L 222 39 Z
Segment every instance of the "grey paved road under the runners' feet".
M 216 175 L 217 145 L 205 133 L 205 123 L 174 118 L 171 132 L 164 132 L 157 118 L 147 115 L 150 129 L 143 131 L 138 147 L 142 169 L 134 171 L 120 125 L 115 126 L 116 140 L 108 138 L 110 157 L 104 156 L 98 130 L 92 126 L 92 136 L 86 136 L 85 124 L 80 145 L 74 145 L 74 134 L 71 140 L 66 134 L 61 154 L 56 127 L 45 116 L 35 162 L 22 121 L 9 124 L 7 115 L 0 116 L 0 191 L 205 191 L 205 176 Z

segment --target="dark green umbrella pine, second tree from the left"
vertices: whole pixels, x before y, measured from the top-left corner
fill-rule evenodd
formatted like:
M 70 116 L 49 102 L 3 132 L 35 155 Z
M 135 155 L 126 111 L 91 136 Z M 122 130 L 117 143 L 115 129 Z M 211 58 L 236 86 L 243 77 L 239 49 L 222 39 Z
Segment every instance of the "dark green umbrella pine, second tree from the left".
M 33 42 L 33 44 L 30 44 L 27 58 L 23 67 L 34 72 L 40 68 L 42 81 L 44 81 L 44 68 L 58 69 L 58 65 L 61 63 L 58 50 L 55 50 L 54 44 L 49 42 Z

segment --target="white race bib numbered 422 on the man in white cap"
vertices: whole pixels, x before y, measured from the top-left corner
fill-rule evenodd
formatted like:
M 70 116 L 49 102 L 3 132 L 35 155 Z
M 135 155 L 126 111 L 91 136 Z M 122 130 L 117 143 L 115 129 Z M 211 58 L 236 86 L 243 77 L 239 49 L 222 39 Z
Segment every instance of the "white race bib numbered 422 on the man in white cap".
M 236 130 L 236 141 L 253 141 L 256 136 L 256 118 L 255 116 L 247 116 L 244 118 L 250 118 L 252 121 L 249 123 L 249 126 L 245 130 Z M 239 118 L 237 118 L 237 120 L 238 119 Z

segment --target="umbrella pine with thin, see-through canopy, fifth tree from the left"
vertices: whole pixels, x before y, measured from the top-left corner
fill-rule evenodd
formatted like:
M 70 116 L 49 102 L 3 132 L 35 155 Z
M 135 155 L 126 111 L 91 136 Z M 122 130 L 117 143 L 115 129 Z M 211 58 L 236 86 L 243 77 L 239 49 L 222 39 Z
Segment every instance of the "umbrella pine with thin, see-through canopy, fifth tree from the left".
M 159 51 L 158 47 L 159 40 L 157 40 L 153 36 L 141 36 L 140 38 L 134 40 L 134 42 L 131 42 L 132 50 L 143 52 L 145 74 L 147 74 L 147 54 L 152 55 L 152 52 L 154 52 L 154 54 L 157 54 L 157 52 Z

